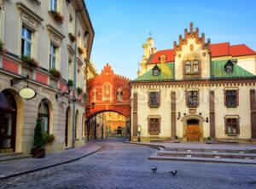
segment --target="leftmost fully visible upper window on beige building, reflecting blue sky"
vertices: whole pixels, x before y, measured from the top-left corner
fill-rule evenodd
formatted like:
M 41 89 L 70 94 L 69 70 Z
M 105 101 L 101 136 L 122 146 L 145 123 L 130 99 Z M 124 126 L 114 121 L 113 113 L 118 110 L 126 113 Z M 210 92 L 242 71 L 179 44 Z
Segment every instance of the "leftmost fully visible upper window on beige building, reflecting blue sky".
M 32 31 L 26 27 L 21 28 L 21 55 L 31 56 L 32 52 Z

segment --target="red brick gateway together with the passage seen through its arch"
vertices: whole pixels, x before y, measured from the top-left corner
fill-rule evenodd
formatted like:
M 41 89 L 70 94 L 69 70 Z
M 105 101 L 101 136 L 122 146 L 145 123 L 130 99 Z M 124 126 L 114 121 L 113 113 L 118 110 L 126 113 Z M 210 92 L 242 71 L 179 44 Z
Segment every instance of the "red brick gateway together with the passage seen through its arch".
M 85 135 L 88 139 L 104 138 L 109 132 L 117 134 L 118 127 L 122 134 L 127 133 L 131 95 L 129 82 L 128 78 L 115 74 L 108 64 L 101 74 L 87 80 Z M 114 112 L 121 114 L 122 120 Z

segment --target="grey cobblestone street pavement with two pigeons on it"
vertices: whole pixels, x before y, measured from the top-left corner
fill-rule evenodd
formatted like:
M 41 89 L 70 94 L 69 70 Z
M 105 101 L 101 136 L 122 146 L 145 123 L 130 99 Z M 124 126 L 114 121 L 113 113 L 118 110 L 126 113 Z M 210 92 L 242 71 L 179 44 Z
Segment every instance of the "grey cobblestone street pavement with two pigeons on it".
M 152 161 L 154 149 L 147 146 L 97 144 L 102 150 L 90 157 L 0 180 L 0 188 L 256 188 L 255 165 Z

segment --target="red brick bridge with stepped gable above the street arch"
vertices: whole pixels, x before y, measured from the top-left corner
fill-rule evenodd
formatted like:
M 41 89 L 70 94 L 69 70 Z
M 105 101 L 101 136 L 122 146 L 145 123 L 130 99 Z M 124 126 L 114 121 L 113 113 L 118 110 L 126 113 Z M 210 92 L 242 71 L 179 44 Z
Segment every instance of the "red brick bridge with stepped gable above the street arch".
M 100 112 L 118 112 L 130 117 L 130 80 L 114 74 L 111 66 L 87 81 L 86 119 Z

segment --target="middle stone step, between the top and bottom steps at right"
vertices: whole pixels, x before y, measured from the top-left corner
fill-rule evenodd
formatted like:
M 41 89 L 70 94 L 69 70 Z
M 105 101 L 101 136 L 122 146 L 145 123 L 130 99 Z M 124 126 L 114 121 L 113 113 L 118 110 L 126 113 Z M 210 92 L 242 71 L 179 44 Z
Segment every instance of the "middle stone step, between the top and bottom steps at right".
M 157 152 L 158 156 L 171 156 L 171 157 L 201 157 L 201 158 L 239 158 L 239 159 L 256 159 L 256 153 L 244 152 L 176 152 L 176 151 L 160 151 Z

